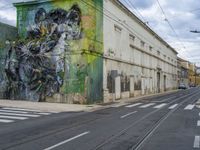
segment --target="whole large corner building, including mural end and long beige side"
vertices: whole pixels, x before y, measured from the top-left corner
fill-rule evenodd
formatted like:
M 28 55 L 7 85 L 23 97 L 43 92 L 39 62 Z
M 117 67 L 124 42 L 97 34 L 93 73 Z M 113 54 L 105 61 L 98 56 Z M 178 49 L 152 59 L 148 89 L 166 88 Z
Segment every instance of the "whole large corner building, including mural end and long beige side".
M 118 0 L 14 5 L 8 98 L 96 103 L 177 87 L 177 52 Z

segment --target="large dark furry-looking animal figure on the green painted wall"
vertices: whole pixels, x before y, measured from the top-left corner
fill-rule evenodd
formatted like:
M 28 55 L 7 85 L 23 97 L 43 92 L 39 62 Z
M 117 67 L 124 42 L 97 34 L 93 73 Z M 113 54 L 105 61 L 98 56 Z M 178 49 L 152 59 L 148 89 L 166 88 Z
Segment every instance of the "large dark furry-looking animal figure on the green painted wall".
M 70 74 L 69 42 L 82 38 L 81 10 L 39 8 L 25 40 L 7 43 L 6 98 L 43 100 L 59 92 Z

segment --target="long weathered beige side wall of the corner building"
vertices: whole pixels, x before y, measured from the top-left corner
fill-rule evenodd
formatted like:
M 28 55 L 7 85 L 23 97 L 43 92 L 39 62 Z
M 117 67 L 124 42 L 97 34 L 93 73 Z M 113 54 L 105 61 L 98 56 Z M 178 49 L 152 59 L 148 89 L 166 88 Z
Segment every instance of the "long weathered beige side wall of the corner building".
M 105 102 L 177 88 L 177 52 L 116 0 L 104 0 L 103 78 Z

